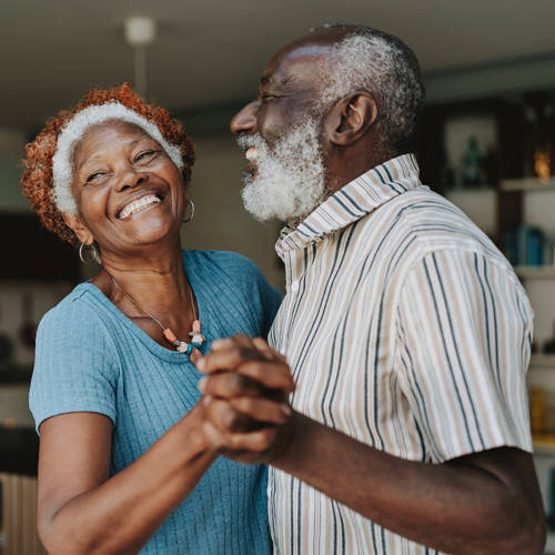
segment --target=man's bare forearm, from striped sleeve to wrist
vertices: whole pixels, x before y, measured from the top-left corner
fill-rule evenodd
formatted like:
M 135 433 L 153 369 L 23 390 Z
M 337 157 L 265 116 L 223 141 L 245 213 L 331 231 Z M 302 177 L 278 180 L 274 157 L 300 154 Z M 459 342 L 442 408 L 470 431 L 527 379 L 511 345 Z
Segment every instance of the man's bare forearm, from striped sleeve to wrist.
M 434 465 L 389 455 L 299 413 L 285 426 L 294 427 L 293 438 L 273 466 L 392 532 L 456 555 L 543 552 L 541 500 L 522 491 L 534 490 L 534 481 L 512 480 L 533 475 L 524 452 Z

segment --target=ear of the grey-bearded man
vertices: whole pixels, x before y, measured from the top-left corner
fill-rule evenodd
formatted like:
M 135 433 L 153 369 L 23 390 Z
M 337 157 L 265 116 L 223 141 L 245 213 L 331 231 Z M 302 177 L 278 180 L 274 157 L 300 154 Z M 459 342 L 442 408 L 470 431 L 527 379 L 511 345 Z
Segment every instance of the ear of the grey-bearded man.
M 333 107 L 324 132 L 331 143 L 347 147 L 362 139 L 377 118 L 376 101 L 365 91 L 354 92 Z

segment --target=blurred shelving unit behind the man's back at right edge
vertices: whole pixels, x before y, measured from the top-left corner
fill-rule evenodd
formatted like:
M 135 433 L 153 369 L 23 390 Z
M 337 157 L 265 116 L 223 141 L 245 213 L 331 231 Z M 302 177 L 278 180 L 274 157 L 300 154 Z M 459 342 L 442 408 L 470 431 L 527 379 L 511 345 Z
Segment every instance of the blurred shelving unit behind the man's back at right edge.
M 545 137 L 555 142 L 555 112 L 553 93 L 525 94 L 519 98 L 490 98 L 466 102 L 436 104 L 426 109 L 418 153 L 423 183 L 445 195 L 463 210 L 497 246 L 505 250 L 507 230 L 535 225 L 555 235 L 555 176 L 553 152 L 551 167 L 539 175 L 533 167 L 537 154 L 538 122 Z M 541 103 L 543 114 L 538 117 Z M 531 114 L 531 107 L 536 114 Z M 496 143 L 484 169 L 485 185 L 480 189 L 453 188 L 446 178 L 446 124 L 450 118 L 495 119 Z M 537 134 L 537 133 L 536 133 Z M 551 138 L 551 139 L 549 139 Z M 535 161 L 537 162 L 537 160 Z M 451 189 L 450 189 L 451 188 Z M 553 336 L 555 320 L 555 266 L 517 266 L 515 272 L 523 282 L 535 311 L 534 340 L 541 347 Z M 555 355 L 533 354 L 527 374 L 528 390 L 541 387 L 545 393 L 547 430 L 545 438 L 534 437 L 534 463 L 539 480 L 549 533 L 545 554 L 555 554 Z

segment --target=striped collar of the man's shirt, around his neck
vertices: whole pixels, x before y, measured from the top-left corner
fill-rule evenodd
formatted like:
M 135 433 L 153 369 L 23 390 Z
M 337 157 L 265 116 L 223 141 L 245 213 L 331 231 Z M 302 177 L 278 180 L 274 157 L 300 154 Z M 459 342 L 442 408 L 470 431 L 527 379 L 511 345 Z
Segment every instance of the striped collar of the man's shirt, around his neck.
M 285 226 L 276 243 L 280 251 L 304 249 L 373 212 L 389 200 L 421 185 L 418 163 L 403 154 L 372 168 L 323 202 L 296 228 Z

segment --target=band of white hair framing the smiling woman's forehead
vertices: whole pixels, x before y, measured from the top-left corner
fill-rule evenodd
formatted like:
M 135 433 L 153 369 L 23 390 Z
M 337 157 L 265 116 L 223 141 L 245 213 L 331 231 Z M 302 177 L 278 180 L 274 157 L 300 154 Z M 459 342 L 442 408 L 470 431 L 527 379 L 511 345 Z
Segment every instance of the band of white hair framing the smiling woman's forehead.
M 147 120 L 135 111 L 115 101 L 90 105 L 81 110 L 62 129 L 61 134 L 58 137 L 56 153 L 52 158 L 53 199 L 58 210 L 63 214 L 79 214 L 75 199 L 71 191 L 71 183 L 73 181 L 73 150 L 89 128 L 108 120 L 123 120 L 141 128 L 165 150 L 180 170 L 183 169 L 183 159 L 181 158 L 179 147 L 170 144 L 152 121 Z

